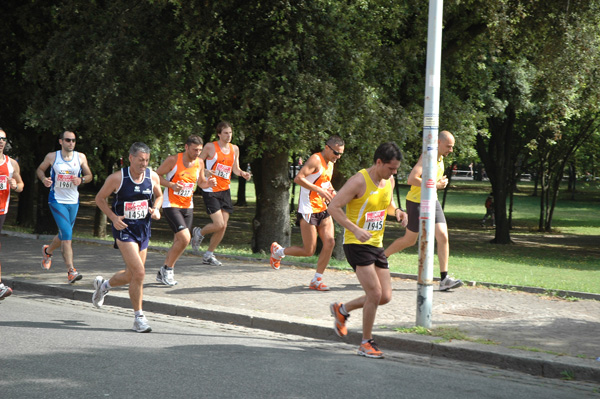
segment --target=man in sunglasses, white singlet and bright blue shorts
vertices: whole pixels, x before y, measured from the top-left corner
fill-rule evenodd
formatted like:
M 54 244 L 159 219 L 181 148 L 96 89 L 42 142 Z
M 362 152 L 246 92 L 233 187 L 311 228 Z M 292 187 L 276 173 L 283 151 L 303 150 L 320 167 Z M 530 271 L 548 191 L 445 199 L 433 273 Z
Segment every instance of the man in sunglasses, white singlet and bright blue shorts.
M 48 204 L 58 226 L 58 234 L 50 245 L 42 246 L 42 269 L 50 269 L 52 254 L 60 248 L 67 266 L 67 281 L 81 280 L 73 265 L 73 225 L 79 210 L 79 186 L 92 180 L 85 154 L 75 151 L 75 133 L 64 131 L 58 138 L 61 149 L 49 152 L 37 168 L 37 177 L 50 188 Z M 50 176 L 46 171 L 50 168 Z

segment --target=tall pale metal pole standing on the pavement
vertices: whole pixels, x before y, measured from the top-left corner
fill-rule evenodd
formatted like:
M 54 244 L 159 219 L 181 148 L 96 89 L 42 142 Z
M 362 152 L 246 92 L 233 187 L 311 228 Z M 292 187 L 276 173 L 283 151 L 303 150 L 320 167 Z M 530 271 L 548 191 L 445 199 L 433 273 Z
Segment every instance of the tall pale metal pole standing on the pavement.
M 423 174 L 419 214 L 419 278 L 417 282 L 417 325 L 431 327 L 433 300 L 433 248 L 440 112 L 443 0 L 429 1 L 425 115 L 423 118 Z

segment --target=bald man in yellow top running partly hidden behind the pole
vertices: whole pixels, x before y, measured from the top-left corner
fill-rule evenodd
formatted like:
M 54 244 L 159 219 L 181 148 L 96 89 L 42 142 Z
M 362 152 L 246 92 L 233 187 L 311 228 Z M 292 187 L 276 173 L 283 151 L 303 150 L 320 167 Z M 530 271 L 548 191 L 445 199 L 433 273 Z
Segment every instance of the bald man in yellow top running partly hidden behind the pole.
M 438 138 L 438 168 L 437 190 L 443 190 L 448 184 L 448 178 L 444 175 L 444 157 L 452 152 L 454 148 L 454 136 L 447 130 L 443 130 Z M 408 213 L 408 226 L 403 237 L 394 241 L 386 250 L 387 257 L 411 247 L 417 243 L 419 238 L 419 204 L 421 202 L 421 175 L 423 174 L 423 157 L 419 158 L 408 176 L 410 191 L 406 196 L 406 212 Z M 448 276 L 448 258 L 450 255 L 450 244 L 448 242 L 448 226 L 446 217 L 440 202 L 436 200 L 435 211 L 435 240 L 437 241 L 437 254 L 440 264 L 440 291 L 447 291 L 463 285 L 462 281 Z

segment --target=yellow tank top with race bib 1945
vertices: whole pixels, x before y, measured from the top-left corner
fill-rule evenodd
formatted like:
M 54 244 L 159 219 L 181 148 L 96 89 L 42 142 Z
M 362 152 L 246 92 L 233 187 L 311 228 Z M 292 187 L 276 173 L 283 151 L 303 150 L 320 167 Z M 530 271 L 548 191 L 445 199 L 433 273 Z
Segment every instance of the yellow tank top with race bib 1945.
M 383 231 L 385 230 L 385 217 L 387 208 L 392 200 L 392 183 L 387 180 L 385 187 L 379 188 L 371 180 L 369 172 L 362 169 L 359 173 L 363 175 L 367 183 L 367 189 L 360 198 L 354 198 L 346 205 L 346 216 L 358 227 L 369 230 L 372 237 L 366 242 L 360 242 L 352 232 L 346 230 L 344 233 L 344 244 L 372 245 L 383 247 Z

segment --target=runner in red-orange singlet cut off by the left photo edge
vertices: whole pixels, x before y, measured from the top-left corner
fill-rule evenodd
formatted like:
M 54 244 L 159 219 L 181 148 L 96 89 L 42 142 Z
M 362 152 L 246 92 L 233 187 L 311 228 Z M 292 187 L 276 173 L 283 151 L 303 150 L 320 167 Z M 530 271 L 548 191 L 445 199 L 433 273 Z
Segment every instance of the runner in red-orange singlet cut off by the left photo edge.
M 10 190 L 20 193 L 25 186 L 23 179 L 21 179 L 19 164 L 4 154 L 6 140 L 8 140 L 6 132 L 0 128 L 0 232 L 2 232 L 2 226 L 8 213 Z M 0 300 L 10 296 L 10 294 L 12 294 L 12 289 L 2 284 L 2 265 L 0 265 Z

